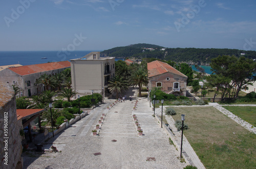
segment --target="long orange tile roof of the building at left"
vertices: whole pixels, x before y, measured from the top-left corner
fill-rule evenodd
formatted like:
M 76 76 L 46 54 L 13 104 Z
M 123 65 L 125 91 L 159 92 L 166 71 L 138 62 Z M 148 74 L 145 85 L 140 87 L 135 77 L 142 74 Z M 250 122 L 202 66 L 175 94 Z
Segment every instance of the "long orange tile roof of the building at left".
M 42 63 L 42 64 L 32 64 L 27 66 L 19 67 L 9 67 L 10 70 L 14 71 L 18 75 L 29 75 L 34 73 L 39 73 L 42 71 L 54 70 L 59 68 L 70 67 L 71 64 L 69 61 L 61 62 L 51 62 L 51 63 Z

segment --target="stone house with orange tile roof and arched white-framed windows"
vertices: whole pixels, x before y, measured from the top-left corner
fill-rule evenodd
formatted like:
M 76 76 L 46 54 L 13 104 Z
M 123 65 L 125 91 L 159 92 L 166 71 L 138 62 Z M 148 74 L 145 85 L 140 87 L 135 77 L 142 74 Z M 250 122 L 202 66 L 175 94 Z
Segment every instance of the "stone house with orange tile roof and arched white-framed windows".
M 147 63 L 148 88 L 161 87 L 161 90 L 174 95 L 186 95 L 187 76 L 161 61 Z

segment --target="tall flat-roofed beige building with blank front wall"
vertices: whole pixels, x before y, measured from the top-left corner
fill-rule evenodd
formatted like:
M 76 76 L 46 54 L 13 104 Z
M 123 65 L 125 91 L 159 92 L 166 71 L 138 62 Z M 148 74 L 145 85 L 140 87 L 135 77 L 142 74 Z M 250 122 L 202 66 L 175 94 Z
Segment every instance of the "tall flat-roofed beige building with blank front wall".
M 115 58 L 100 57 L 100 52 L 71 59 L 72 87 L 78 94 L 104 93 L 109 96 L 108 81 L 115 76 Z

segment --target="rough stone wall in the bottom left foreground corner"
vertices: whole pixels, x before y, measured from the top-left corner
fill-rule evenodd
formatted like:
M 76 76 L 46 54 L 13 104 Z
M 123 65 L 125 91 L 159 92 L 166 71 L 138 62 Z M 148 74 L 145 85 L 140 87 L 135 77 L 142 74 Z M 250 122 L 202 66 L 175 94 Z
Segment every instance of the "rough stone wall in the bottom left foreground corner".
M 0 168 L 22 168 L 22 137 L 14 91 L 0 82 Z

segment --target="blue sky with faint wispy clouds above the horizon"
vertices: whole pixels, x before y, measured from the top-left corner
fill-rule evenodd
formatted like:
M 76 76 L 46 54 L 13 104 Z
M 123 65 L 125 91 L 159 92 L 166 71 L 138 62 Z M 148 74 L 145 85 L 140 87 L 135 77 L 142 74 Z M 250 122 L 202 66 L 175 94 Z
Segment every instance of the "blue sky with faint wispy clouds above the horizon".
M 0 0 L 0 51 L 150 43 L 256 51 L 255 0 Z

